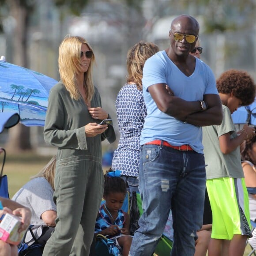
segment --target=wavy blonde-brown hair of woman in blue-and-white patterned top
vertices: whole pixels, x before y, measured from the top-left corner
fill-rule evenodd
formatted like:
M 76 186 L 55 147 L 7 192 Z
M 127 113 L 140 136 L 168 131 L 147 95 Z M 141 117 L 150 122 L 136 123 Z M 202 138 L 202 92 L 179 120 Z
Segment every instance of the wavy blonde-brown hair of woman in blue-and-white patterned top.
M 142 90 L 142 71 L 145 61 L 159 51 L 157 45 L 139 41 L 127 53 L 127 83 L 134 82 Z

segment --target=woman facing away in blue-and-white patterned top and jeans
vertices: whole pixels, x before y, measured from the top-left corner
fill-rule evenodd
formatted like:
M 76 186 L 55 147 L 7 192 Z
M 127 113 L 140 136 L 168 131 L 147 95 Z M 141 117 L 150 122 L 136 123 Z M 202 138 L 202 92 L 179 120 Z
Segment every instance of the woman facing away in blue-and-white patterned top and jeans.
M 139 192 L 140 133 L 147 115 L 142 92 L 142 71 L 145 61 L 159 51 L 153 43 L 139 41 L 127 54 L 127 83 L 117 95 L 116 110 L 120 132 L 112 169 L 122 171 L 128 191 Z

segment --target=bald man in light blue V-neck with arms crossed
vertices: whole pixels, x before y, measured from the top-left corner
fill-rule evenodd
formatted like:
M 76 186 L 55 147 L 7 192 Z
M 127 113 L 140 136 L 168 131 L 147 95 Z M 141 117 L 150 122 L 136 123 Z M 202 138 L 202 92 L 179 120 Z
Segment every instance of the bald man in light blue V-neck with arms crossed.
M 153 254 L 170 210 L 174 228 L 171 256 L 193 256 L 195 252 L 206 183 L 202 126 L 222 122 L 213 72 L 189 54 L 198 35 L 195 18 L 176 17 L 169 31 L 169 48 L 149 58 L 143 68 L 147 117 L 140 141 L 139 188 L 144 212 L 130 256 Z

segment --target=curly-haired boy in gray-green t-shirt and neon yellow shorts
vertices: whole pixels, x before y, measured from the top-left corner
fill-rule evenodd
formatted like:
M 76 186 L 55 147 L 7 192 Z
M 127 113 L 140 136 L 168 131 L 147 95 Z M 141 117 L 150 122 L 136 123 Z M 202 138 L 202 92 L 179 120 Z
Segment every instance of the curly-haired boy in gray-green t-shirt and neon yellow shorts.
M 255 129 L 245 124 L 236 132 L 231 114 L 253 102 L 256 85 L 247 72 L 232 69 L 222 73 L 217 89 L 222 101 L 222 124 L 203 127 L 206 186 L 213 215 L 208 256 L 243 256 L 252 233 L 239 145 L 252 139 Z

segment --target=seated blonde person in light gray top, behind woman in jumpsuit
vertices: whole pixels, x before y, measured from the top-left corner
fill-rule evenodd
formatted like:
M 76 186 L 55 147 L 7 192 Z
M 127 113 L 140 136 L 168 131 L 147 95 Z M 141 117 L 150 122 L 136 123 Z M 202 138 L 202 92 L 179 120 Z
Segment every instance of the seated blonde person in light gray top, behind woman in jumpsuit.
M 57 216 L 56 204 L 53 202 L 55 165 L 56 156 L 53 156 L 44 168 L 12 197 L 12 200 L 30 209 L 33 233 L 38 243 L 43 246 L 54 230 Z M 30 232 L 27 232 L 25 242 L 28 245 L 35 242 Z

